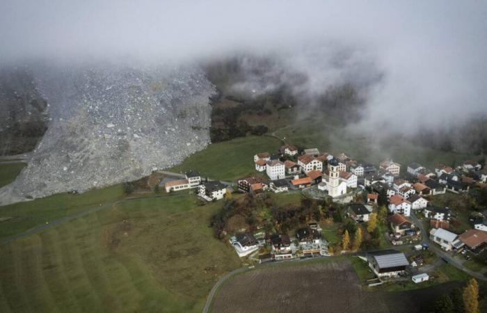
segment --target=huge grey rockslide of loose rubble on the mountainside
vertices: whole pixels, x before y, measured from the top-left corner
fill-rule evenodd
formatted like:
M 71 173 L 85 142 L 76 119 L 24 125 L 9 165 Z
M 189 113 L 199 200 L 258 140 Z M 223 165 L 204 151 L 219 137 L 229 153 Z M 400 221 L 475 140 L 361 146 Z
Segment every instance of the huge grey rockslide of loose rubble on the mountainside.
M 37 67 L 49 128 L 0 204 L 110 186 L 168 168 L 209 143 L 214 86 L 198 68 Z

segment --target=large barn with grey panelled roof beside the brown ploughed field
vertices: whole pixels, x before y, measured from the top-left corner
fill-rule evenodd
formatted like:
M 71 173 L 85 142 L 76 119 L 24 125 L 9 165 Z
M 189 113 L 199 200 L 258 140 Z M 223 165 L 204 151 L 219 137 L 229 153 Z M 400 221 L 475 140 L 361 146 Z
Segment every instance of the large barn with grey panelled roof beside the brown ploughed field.
M 378 278 L 392 278 L 406 272 L 408 259 L 403 252 L 397 250 L 381 250 L 367 253 L 369 267 Z

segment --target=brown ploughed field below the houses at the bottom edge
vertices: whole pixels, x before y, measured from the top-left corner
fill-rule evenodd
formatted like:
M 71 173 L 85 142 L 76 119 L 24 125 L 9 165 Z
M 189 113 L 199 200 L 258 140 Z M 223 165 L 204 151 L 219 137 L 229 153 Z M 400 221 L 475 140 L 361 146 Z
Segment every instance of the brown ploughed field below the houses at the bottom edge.
M 276 266 L 225 282 L 213 312 L 428 312 L 431 299 L 455 286 L 364 291 L 349 260 Z

